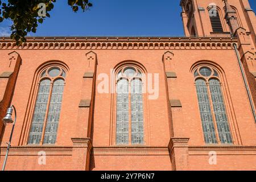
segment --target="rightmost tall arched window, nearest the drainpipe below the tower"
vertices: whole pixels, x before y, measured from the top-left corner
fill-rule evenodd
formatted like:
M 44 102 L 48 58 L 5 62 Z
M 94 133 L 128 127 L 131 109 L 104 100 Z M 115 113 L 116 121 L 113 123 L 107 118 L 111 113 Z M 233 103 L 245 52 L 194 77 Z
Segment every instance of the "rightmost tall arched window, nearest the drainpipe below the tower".
M 205 143 L 233 143 L 217 71 L 199 67 L 194 76 Z

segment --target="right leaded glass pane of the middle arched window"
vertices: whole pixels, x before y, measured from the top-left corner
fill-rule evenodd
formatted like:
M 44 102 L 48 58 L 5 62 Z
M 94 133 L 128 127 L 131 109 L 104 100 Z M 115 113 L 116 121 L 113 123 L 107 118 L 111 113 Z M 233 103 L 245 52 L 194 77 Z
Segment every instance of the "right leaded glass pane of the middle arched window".
M 131 143 L 144 143 L 142 81 L 131 81 Z

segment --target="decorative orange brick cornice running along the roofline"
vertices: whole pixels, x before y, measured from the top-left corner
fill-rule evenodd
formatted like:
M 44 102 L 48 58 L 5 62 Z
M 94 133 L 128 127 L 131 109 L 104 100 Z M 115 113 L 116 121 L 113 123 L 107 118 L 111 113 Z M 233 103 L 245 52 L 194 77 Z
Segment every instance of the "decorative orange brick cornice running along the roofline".
M 10 38 L 0 38 L 0 49 L 233 49 L 237 38 L 209 37 L 36 37 L 16 46 Z

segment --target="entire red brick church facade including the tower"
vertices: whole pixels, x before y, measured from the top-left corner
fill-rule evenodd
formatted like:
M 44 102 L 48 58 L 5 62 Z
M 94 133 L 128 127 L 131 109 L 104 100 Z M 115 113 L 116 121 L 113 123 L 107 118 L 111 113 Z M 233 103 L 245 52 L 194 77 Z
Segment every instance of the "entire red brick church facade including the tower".
M 180 38 L 1 38 L 6 170 L 256 170 L 255 14 L 180 5 Z

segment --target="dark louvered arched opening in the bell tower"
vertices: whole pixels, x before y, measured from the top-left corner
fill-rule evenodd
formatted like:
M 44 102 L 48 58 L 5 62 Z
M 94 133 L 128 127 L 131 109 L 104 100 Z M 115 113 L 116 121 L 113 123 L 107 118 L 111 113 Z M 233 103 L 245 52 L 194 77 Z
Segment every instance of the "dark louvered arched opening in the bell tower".
M 212 24 L 213 32 L 223 32 L 220 14 L 218 13 L 218 10 L 210 9 L 209 15 L 210 15 L 210 23 Z

